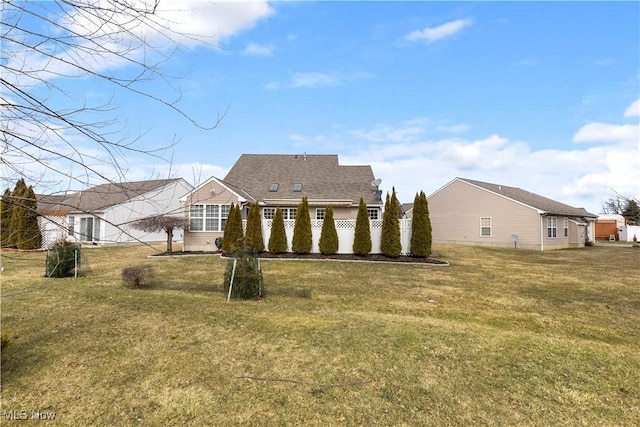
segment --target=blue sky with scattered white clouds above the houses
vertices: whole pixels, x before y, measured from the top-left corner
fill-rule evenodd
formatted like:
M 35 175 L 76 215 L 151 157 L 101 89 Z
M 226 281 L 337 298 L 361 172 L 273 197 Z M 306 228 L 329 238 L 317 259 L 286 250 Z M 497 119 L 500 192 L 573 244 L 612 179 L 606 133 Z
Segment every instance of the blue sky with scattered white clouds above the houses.
M 638 2 L 173 0 L 157 13 L 171 54 L 139 88 L 201 127 L 221 117 L 214 129 L 86 76 L 41 79 L 67 103 L 111 102 L 137 149 L 174 143 L 164 160 L 127 152 L 126 180 L 197 185 L 244 153 L 337 154 L 404 203 L 455 177 L 592 213 L 640 198 Z

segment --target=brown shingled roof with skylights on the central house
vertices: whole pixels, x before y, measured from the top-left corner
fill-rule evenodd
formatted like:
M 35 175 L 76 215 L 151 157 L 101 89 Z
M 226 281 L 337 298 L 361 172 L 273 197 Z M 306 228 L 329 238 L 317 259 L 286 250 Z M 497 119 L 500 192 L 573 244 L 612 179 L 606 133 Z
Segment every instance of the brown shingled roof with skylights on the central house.
M 224 182 L 259 201 L 299 201 L 306 196 L 310 203 L 351 201 L 357 205 L 362 197 L 367 205 L 380 205 L 371 185 L 374 179 L 371 166 L 340 165 L 334 154 L 243 154 Z

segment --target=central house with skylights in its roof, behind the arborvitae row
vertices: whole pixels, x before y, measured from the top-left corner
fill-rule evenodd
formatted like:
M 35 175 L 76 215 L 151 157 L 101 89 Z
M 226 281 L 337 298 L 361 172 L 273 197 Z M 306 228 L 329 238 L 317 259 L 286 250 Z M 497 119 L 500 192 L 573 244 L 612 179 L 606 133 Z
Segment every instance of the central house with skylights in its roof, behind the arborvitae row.
M 243 154 L 224 179 L 210 178 L 186 194 L 184 203 L 189 230 L 184 235 L 184 250 L 215 251 L 222 237 L 231 204 L 240 204 L 246 218 L 250 203 L 258 203 L 266 225 L 265 243 L 276 208 L 280 208 L 285 226 L 293 228 L 298 204 L 307 197 L 312 219 L 314 249 L 317 251 L 318 224 L 331 206 L 334 219 L 355 220 L 360 198 L 367 204 L 369 218 L 382 217 L 380 181 L 371 166 L 341 165 L 337 155 Z M 315 220 L 315 222 L 314 222 Z M 291 235 L 288 235 L 291 244 Z M 351 250 L 344 247 L 341 251 Z

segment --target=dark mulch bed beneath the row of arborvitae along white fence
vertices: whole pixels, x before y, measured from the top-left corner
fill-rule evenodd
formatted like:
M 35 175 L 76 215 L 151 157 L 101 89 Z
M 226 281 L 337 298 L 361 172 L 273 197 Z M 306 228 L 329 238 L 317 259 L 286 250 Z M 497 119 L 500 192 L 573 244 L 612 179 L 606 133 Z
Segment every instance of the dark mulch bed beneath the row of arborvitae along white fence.
M 219 252 L 204 252 L 204 251 L 180 251 L 173 252 L 171 255 L 166 252 L 151 255 L 152 257 L 158 256 L 189 256 L 189 255 L 215 255 Z M 296 254 L 292 252 L 286 252 L 282 254 L 274 254 L 271 252 L 260 252 L 258 255 L 261 259 L 283 259 L 283 260 L 317 260 L 317 261 L 360 261 L 360 262 L 393 262 L 393 263 L 413 263 L 413 264 L 431 264 L 431 265 L 449 265 L 448 262 L 435 258 L 428 257 L 412 257 L 401 255 L 398 257 L 388 257 L 382 254 L 369 254 L 369 255 L 354 255 L 354 254 Z

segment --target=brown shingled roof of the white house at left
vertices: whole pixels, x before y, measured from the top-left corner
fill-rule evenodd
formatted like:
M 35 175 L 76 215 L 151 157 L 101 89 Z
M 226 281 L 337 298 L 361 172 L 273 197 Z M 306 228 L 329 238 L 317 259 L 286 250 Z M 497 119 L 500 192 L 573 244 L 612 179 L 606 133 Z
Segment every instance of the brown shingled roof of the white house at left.
M 43 215 L 98 212 L 162 188 L 179 179 L 110 183 L 68 195 L 38 195 L 38 212 Z

